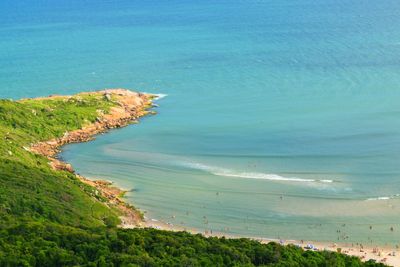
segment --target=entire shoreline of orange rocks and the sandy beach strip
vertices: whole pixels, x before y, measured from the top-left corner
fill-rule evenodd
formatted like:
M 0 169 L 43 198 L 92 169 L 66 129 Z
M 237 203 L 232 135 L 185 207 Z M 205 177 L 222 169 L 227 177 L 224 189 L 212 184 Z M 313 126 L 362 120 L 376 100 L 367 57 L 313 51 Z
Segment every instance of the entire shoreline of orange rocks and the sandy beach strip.
M 318 241 L 298 241 L 298 240 L 277 240 L 270 238 L 260 237 L 244 237 L 239 235 L 224 234 L 224 233 L 208 233 L 199 231 L 196 228 L 187 228 L 181 226 L 174 226 L 167 222 L 157 221 L 154 219 L 146 219 L 140 210 L 136 209 L 133 205 L 127 203 L 123 196 L 127 192 L 116 186 L 113 182 L 105 180 L 91 180 L 84 176 L 75 173 L 71 164 L 68 164 L 57 158 L 62 146 L 70 143 L 88 142 L 94 139 L 94 136 L 107 132 L 113 128 L 120 128 L 132 123 L 137 123 L 138 119 L 148 114 L 153 114 L 149 111 L 150 108 L 157 106 L 153 104 L 152 100 L 156 95 L 147 93 L 136 93 L 125 89 L 105 89 L 95 92 L 85 92 L 74 96 L 49 96 L 34 99 L 69 99 L 71 97 L 79 97 L 79 95 L 97 95 L 103 96 L 108 101 L 116 104 L 110 109 L 107 114 L 101 113 L 95 123 L 86 125 L 85 127 L 66 132 L 60 138 L 54 138 L 48 141 L 33 144 L 29 151 L 45 156 L 49 160 L 50 166 L 54 170 L 68 171 L 73 173 L 81 182 L 90 185 L 98 190 L 98 192 L 107 199 L 106 205 L 117 208 L 123 215 L 120 216 L 121 228 L 156 228 L 168 231 L 186 231 L 192 234 L 202 234 L 206 237 L 226 237 L 226 238 L 249 238 L 252 240 L 260 241 L 261 243 L 276 242 L 283 245 L 297 245 L 305 249 L 311 250 L 329 250 L 340 252 L 346 255 L 357 256 L 363 261 L 374 259 L 377 262 L 385 264 L 400 266 L 400 254 L 398 248 L 393 249 L 390 247 L 370 247 L 362 245 L 353 245 L 346 243 L 334 242 L 318 242 Z M 23 100 L 20 100 L 23 101 Z M 308 246 L 312 245 L 312 246 Z M 307 248 L 308 247 L 308 248 Z M 389 256 L 393 251 L 396 256 Z

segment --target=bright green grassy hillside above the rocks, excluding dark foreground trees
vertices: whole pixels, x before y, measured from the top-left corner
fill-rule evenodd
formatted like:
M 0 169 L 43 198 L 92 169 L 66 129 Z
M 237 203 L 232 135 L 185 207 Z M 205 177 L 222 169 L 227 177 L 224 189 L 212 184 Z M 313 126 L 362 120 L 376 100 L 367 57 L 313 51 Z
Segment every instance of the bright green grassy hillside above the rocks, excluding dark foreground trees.
M 32 143 L 62 136 L 94 122 L 102 98 L 0 100 L 0 225 L 22 220 L 76 227 L 115 225 L 115 211 L 90 197 L 93 188 L 73 174 L 56 172 L 45 157 L 27 151 Z

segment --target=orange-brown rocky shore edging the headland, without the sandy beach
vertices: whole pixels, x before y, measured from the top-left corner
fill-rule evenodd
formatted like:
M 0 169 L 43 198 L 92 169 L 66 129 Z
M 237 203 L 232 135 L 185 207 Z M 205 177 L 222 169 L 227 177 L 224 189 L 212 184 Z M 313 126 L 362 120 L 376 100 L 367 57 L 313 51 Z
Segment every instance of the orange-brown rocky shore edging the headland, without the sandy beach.
M 156 98 L 152 94 L 132 92 L 126 89 L 105 89 L 95 92 L 83 92 L 74 96 L 53 95 L 49 97 L 39 97 L 34 99 L 70 99 L 79 98 L 80 95 L 101 96 L 107 101 L 113 102 L 115 106 L 110 108 L 108 113 L 100 112 L 95 123 L 90 123 L 81 129 L 65 132 L 60 138 L 54 138 L 31 145 L 27 150 L 45 156 L 49 160 L 49 165 L 56 171 L 67 171 L 73 173 L 82 183 L 97 189 L 96 193 L 101 194 L 107 199 L 106 205 L 117 208 L 123 215 L 120 216 L 121 225 L 139 226 L 143 221 L 143 215 L 131 204 L 122 198 L 126 193 L 118 187 L 112 186 L 113 182 L 105 180 L 91 180 L 77 174 L 71 164 L 60 160 L 57 156 L 62 146 L 71 143 L 88 142 L 94 139 L 95 135 L 105 133 L 114 128 L 121 128 L 129 124 L 137 123 L 138 119 L 148 114 L 154 105 L 152 100 Z M 24 99 L 20 100 L 24 101 Z

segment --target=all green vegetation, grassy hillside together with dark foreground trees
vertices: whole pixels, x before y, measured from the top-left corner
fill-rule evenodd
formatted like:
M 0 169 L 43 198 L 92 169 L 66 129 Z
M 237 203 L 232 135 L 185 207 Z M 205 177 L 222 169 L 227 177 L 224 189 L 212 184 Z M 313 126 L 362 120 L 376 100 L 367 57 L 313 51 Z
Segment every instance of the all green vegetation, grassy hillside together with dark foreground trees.
M 26 150 L 113 105 L 99 95 L 0 100 L 0 266 L 383 266 L 249 239 L 117 228 L 118 212 L 94 188 Z

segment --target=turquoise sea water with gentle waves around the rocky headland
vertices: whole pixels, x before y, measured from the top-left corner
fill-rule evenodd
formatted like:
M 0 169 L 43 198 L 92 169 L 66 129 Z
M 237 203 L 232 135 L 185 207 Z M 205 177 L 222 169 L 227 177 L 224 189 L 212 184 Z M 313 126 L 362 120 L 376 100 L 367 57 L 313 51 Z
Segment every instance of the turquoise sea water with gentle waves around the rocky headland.
M 396 244 L 399 14 L 390 0 L 3 0 L 0 96 L 166 94 L 158 115 L 61 155 L 134 189 L 148 218 Z

